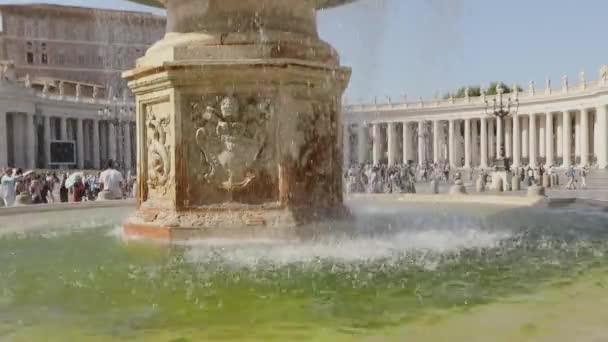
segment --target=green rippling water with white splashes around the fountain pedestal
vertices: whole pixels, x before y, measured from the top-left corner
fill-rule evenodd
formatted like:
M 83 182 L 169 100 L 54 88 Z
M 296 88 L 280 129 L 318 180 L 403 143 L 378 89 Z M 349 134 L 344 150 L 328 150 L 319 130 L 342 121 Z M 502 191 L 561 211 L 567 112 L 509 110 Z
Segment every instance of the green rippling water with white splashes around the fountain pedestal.
M 607 217 L 367 208 L 353 236 L 303 243 L 159 246 L 107 223 L 5 234 L 0 340 L 389 336 L 602 269 Z

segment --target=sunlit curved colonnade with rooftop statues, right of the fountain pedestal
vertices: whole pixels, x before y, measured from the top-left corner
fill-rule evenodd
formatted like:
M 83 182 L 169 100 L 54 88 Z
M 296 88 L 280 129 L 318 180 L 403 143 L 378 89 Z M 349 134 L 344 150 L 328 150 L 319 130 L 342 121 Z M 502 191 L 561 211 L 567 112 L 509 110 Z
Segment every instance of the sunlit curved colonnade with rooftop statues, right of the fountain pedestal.
M 346 106 L 345 163 L 446 162 L 484 169 L 493 166 L 504 141 L 516 167 L 608 168 L 608 66 L 597 81 L 581 73 L 576 84 L 564 76 L 558 88 L 550 80 L 544 89 L 530 82 L 527 90 L 508 97 L 519 105 L 504 124 L 486 114 L 486 103 L 491 111 L 495 96 L 483 94 Z

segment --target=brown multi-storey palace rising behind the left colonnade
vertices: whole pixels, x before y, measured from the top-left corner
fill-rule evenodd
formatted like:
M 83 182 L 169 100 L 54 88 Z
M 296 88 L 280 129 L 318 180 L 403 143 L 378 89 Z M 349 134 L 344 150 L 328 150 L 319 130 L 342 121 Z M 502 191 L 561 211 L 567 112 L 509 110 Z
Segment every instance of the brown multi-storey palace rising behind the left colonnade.
M 165 32 L 149 13 L 47 4 L 0 5 L 0 60 L 32 88 L 82 96 L 120 97 L 121 72 L 135 66 Z M 112 94 L 110 94 L 112 93 Z

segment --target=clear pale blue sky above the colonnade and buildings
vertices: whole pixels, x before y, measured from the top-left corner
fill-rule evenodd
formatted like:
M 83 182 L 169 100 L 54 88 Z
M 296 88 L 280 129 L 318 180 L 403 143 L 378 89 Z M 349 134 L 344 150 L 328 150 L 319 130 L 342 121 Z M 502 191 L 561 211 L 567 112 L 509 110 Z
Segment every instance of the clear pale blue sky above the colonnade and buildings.
M 150 10 L 122 0 L 34 2 Z M 325 11 L 319 23 L 353 67 L 347 97 L 356 102 L 492 80 L 527 88 L 550 76 L 557 85 L 581 70 L 596 79 L 608 64 L 607 14 L 606 0 L 361 0 Z

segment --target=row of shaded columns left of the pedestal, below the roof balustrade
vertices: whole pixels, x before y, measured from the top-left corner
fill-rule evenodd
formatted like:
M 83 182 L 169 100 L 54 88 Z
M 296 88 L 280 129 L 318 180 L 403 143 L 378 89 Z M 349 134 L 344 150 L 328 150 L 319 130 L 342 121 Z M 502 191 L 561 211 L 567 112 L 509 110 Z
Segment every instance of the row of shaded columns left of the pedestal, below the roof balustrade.
M 135 122 L 46 113 L 0 112 L 0 167 L 55 168 L 51 142 L 74 142 L 77 169 L 101 169 L 108 159 L 135 165 Z

